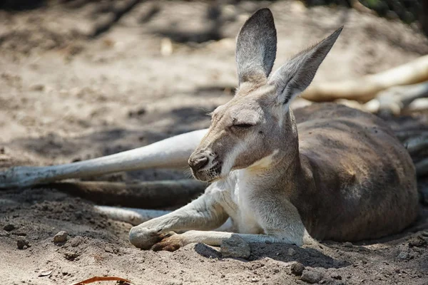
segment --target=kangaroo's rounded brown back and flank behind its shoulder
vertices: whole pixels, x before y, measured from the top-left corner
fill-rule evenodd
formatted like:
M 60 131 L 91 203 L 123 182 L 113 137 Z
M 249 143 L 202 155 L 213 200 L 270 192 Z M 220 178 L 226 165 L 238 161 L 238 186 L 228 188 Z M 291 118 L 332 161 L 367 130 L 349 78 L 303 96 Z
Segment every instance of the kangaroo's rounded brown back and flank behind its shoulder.
M 295 118 L 313 183 L 293 202 L 313 237 L 382 237 L 415 219 L 414 165 L 384 120 L 332 103 L 297 109 Z

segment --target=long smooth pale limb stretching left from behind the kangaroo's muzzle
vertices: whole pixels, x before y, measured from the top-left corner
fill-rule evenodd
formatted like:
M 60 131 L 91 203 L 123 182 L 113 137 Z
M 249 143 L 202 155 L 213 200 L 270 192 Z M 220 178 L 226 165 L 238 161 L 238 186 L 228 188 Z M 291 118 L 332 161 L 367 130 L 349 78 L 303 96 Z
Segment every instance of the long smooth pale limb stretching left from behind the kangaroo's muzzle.
M 27 187 L 112 172 L 146 168 L 183 168 L 207 130 L 176 135 L 145 147 L 98 157 L 93 160 L 47 167 L 12 167 L 0 172 L 0 188 Z

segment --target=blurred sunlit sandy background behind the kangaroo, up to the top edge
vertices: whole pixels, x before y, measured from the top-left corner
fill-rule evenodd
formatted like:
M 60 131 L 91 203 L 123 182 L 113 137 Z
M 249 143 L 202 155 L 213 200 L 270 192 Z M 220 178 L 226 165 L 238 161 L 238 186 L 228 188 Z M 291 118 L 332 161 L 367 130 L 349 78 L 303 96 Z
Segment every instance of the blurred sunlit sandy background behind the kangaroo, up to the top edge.
M 274 68 L 345 25 L 314 84 L 428 54 L 420 0 L 3 0 L 1 166 L 86 160 L 207 128 L 206 114 L 237 84 L 235 36 L 262 7 L 277 26 Z M 145 170 L 107 179 L 177 177 Z

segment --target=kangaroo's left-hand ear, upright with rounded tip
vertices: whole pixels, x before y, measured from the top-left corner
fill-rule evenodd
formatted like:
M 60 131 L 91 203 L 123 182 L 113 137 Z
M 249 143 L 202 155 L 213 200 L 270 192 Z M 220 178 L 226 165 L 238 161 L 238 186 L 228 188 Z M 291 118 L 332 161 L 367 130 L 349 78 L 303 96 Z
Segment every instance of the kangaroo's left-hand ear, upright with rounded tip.
M 239 84 L 263 82 L 272 71 L 277 37 L 272 12 L 260 9 L 240 29 L 236 41 Z

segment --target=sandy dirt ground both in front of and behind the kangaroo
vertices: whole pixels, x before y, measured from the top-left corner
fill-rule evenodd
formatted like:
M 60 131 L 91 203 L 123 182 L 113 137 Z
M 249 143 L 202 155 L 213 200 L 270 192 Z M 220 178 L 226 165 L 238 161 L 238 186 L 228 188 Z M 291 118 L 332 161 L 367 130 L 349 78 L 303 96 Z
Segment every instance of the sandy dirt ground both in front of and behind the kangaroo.
M 86 160 L 208 127 L 205 114 L 230 100 L 237 82 L 234 37 L 261 6 L 275 16 L 277 65 L 345 25 L 317 82 L 382 71 L 428 53 L 427 39 L 409 26 L 292 1 L 220 9 L 144 1 L 117 19 L 106 1 L 49 3 L 0 11 L 0 167 Z M 145 170 L 93 179 L 183 177 Z M 103 275 L 135 284 L 305 284 L 290 271 L 300 262 L 306 274 L 320 276 L 319 284 L 428 284 L 427 217 L 421 204 L 417 223 L 394 237 L 302 248 L 252 244 L 244 260 L 222 258 L 204 244 L 141 251 L 128 242 L 131 224 L 103 217 L 91 202 L 44 188 L 1 190 L 0 277 L 4 284 L 73 284 Z M 68 241 L 52 242 L 61 230 Z M 17 248 L 21 239 L 29 242 L 26 249 Z M 39 276 L 46 270 L 53 271 Z

